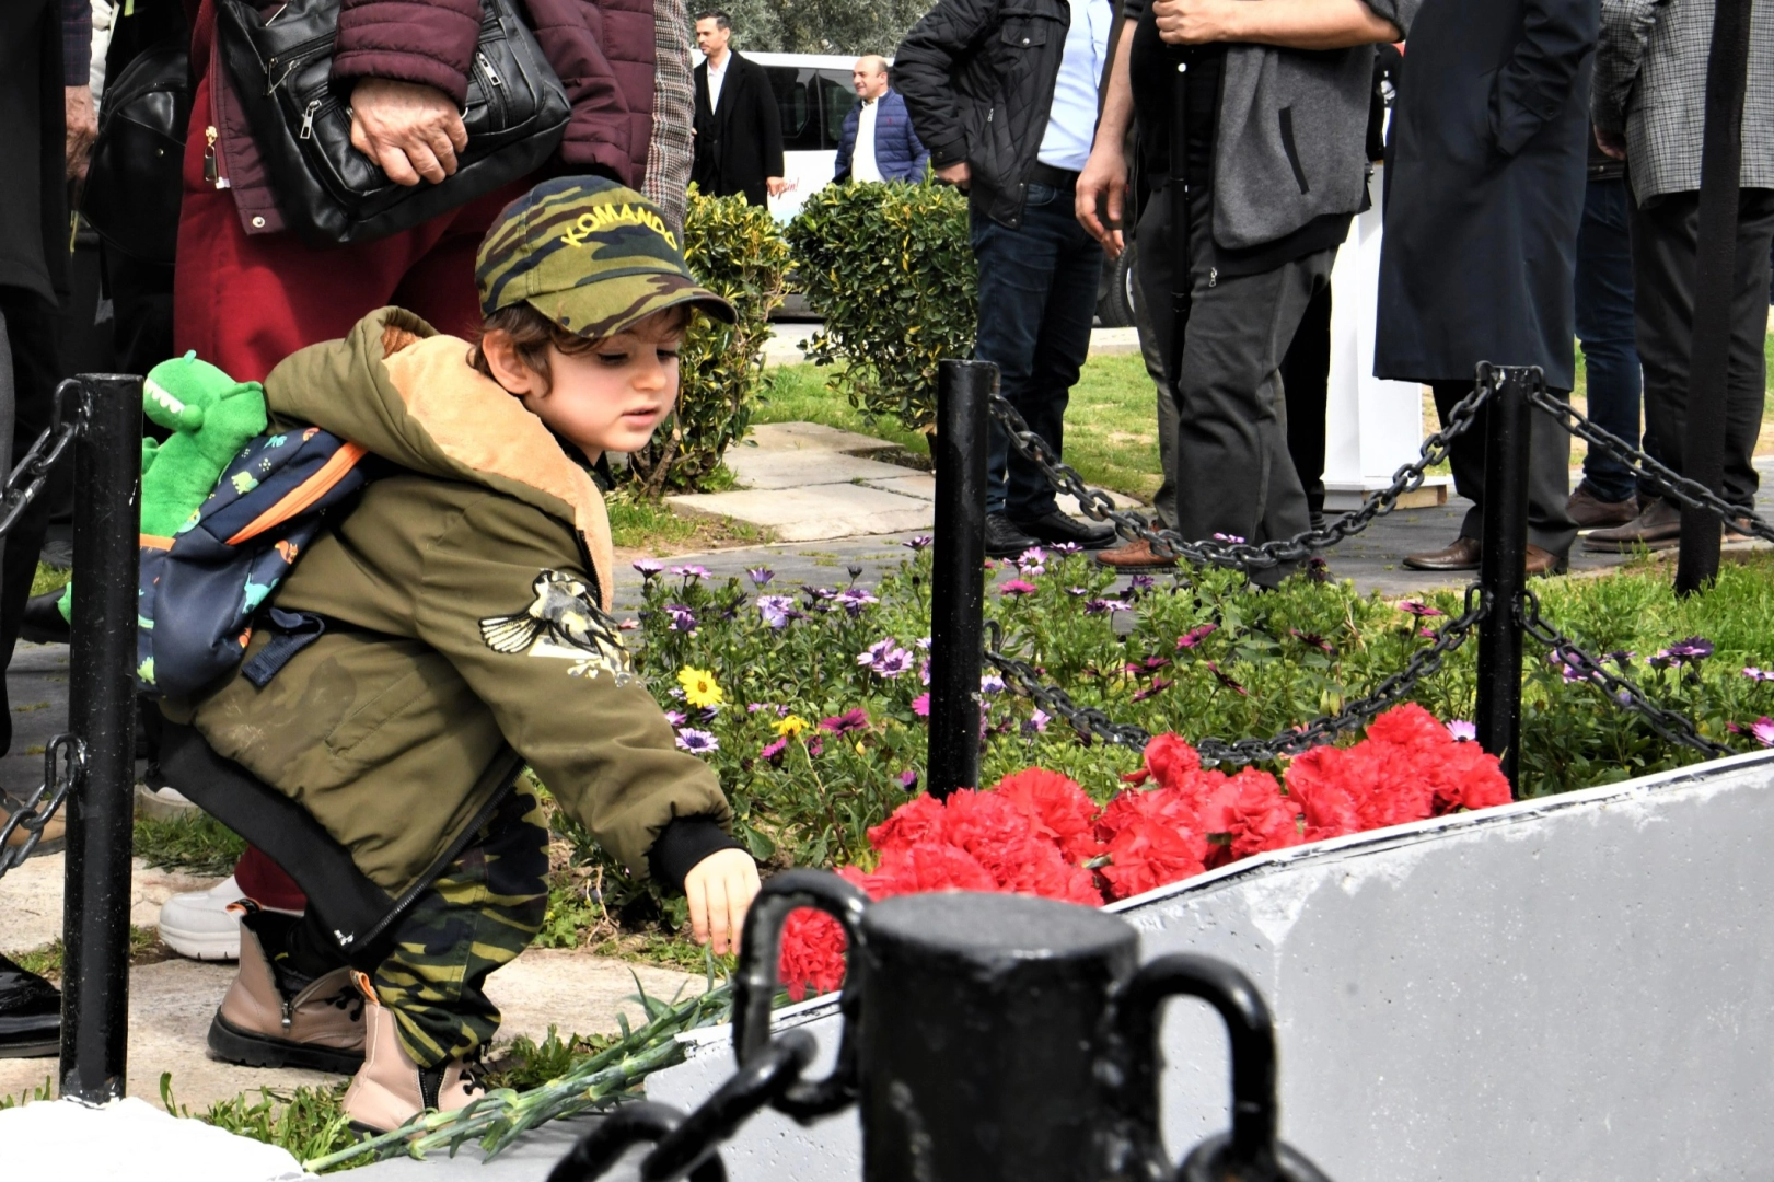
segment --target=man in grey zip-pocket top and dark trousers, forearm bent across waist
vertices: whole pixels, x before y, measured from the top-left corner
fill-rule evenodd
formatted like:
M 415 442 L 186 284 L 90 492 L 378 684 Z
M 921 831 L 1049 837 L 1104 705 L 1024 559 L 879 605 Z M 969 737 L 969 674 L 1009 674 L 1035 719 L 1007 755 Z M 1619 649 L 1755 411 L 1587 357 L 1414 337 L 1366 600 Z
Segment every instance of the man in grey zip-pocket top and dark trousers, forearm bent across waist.
M 1173 373 L 1176 529 L 1185 538 L 1261 543 L 1309 525 L 1279 366 L 1368 199 L 1373 46 L 1400 41 L 1419 2 L 1123 0 L 1077 217 L 1109 252 L 1121 250 L 1123 140 L 1137 115 L 1153 179 L 1139 222 L 1139 286 Z M 1174 162 L 1171 82 L 1180 64 L 1187 160 Z M 1178 183 L 1190 195 L 1185 227 L 1171 224 L 1169 186 Z M 1181 343 L 1171 300 L 1178 266 L 1190 291 Z M 1151 554 L 1134 543 L 1102 559 L 1130 568 Z

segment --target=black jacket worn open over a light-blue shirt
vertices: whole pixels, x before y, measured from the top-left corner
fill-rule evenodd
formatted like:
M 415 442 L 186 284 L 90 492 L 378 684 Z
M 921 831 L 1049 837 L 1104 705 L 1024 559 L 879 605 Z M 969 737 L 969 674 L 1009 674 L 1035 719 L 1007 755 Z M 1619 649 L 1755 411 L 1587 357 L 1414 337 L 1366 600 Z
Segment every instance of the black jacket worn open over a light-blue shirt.
M 931 167 L 965 160 L 972 208 L 1011 229 L 1022 225 L 1070 25 L 1064 0 L 942 0 L 894 55 Z

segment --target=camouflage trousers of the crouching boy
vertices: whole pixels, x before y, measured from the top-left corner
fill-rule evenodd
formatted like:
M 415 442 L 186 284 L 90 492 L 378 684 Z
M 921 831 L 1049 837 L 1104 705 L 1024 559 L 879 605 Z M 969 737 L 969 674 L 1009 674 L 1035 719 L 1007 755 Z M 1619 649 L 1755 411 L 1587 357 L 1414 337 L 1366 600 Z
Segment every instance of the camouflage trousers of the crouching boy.
M 373 981 L 420 1067 L 470 1056 L 498 1029 L 488 974 L 518 958 L 548 912 L 548 825 L 536 797 L 506 797 L 394 930 Z

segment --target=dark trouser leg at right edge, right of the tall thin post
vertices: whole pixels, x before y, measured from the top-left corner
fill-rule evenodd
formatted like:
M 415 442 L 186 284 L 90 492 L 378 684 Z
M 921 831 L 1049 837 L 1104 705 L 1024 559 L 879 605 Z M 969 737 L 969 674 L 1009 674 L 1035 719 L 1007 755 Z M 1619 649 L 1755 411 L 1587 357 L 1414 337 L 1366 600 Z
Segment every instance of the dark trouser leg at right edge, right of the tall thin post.
M 1731 296 L 1731 362 L 1726 378 L 1724 499 L 1754 513 L 1754 467 L 1767 398 L 1769 250 L 1774 241 L 1774 190 L 1746 188 L 1737 204 L 1737 277 Z

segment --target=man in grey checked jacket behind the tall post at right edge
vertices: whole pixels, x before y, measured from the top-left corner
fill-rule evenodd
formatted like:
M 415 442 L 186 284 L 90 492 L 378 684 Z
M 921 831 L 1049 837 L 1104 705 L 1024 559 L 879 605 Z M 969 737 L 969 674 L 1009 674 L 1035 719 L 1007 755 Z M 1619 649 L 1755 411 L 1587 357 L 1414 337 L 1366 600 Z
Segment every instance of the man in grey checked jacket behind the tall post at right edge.
M 1644 451 L 1682 470 L 1687 438 L 1689 350 L 1699 247 L 1699 142 L 1707 112 L 1712 4 L 1602 0 L 1595 57 L 1595 140 L 1627 162 L 1632 183 L 1632 282 L 1639 362 L 1644 366 Z M 1731 359 L 1724 403 L 1724 499 L 1754 511 L 1751 458 L 1767 390 L 1769 241 L 1774 240 L 1774 0 L 1749 16 L 1742 174 L 1737 195 L 1737 273 L 1731 277 Z M 1682 511 L 1641 497 L 1639 516 L 1598 529 L 1586 550 L 1673 547 Z

